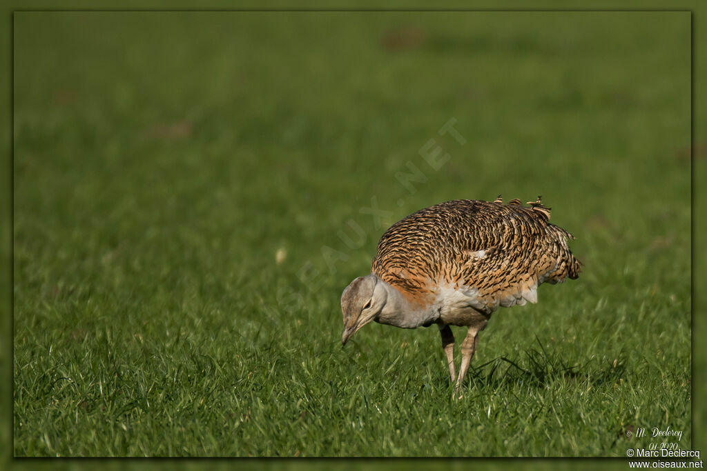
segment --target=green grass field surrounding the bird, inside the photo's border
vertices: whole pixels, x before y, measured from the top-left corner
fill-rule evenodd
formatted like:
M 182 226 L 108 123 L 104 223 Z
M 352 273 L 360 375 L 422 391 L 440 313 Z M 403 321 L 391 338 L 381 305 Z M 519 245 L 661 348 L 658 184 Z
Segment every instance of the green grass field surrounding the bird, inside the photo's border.
M 689 21 L 15 13 L 14 454 L 690 448 Z M 584 271 L 494 314 L 463 400 L 436 328 L 341 348 L 388 225 L 498 193 Z

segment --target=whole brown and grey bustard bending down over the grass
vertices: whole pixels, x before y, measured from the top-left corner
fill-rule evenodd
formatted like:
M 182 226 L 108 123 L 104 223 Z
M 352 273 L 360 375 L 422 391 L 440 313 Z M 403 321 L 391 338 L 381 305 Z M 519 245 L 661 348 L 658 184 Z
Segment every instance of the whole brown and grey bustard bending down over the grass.
M 455 200 L 421 209 L 392 225 L 380 238 L 371 273 L 341 294 L 342 345 L 375 321 L 399 328 L 439 328 L 451 383 L 459 390 L 479 332 L 499 306 L 537 302 L 537 288 L 576 279 L 580 262 L 568 240 L 551 224 L 542 196 L 522 205 Z M 455 371 L 450 326 L 467 327 Z

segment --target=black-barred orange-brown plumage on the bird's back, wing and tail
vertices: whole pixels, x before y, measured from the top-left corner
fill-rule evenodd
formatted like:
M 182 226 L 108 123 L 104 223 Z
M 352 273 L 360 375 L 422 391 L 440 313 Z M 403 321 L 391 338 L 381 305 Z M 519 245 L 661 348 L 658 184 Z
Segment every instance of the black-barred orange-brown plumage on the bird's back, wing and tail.
M 371 270 L 421 304 L 440 283 L 476 288 L 486 311 L 534 302 L 537 285 L 579 272 L 567 244 L 571 234 L 548 219 L 539 199 L 531 208 L 515 200 L 440 203 L 392 225 Z

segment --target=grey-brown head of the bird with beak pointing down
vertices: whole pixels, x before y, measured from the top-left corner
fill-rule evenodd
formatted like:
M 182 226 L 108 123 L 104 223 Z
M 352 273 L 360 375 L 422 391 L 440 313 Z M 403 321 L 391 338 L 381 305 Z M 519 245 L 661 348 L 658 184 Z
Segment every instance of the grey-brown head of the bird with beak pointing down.
M 387 299 L 385 289 L 378 285 L 377 276 L 373 274 L 361 276 L 352 281 L 341 293 L 341 314 L 344 314 L 342 345 L 346 345 L 351 335 L 361 327 L 378 318 Z

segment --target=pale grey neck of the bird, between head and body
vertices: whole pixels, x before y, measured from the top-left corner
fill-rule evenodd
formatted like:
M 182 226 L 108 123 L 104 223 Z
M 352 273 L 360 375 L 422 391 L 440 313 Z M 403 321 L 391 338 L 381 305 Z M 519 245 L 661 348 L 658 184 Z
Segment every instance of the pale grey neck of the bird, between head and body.
M 439 310 L 433 306 L 423 306 L 412 301 L 396 287 L 378 279 L 375 290 L 385 290 L 386 301 L 376 321 L 400 328 L 429 326 L 439 318 Z

